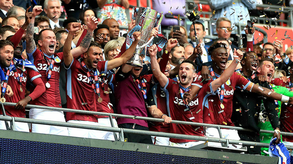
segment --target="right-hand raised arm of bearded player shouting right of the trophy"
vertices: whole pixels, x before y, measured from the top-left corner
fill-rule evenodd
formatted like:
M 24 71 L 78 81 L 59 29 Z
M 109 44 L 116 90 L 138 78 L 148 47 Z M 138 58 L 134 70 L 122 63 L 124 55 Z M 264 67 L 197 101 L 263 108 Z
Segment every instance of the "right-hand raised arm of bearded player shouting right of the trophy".
M 236 48 L 234 48 L 233 57 L 234 60 L 232 61 L 230 66 L 222 73 L 219 78 L 211 82 L 213 91 L 216 91 L 222 84 L 224 84 L 229 79 L 229 77 L 233 75 L 238 62 L 240 62 L 243 57 L 243 52 L 241 52 L 240 50 L 236 51 Z

